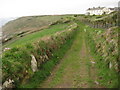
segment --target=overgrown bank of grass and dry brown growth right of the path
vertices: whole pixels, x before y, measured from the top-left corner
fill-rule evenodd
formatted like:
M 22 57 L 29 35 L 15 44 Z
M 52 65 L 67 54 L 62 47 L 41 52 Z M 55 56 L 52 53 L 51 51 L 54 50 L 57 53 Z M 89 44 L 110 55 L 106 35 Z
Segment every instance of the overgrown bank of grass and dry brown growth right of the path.
M 87 28 L 86 39 L 96 58 L 99 82 L 107 88 L 119 87 L 118 27 L 107 30 Z

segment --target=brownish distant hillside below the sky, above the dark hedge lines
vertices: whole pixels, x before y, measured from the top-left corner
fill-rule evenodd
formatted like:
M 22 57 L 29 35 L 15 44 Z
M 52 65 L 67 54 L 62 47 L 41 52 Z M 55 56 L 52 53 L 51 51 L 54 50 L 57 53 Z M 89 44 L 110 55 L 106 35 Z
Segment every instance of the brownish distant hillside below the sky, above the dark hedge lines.
M 25 31 L 40 30 L 65 16 L 26 16 L 8 22 L 2 27 L 3 37 L 9 37 Z

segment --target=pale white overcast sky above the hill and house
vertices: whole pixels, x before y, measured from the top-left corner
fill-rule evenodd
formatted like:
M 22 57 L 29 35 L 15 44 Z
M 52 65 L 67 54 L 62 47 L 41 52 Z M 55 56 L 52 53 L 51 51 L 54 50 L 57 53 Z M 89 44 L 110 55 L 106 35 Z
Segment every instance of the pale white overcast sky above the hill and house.
M 117 7 L 119 0 L 0 0 L 0 18 L 80 14 L 89 7 Z

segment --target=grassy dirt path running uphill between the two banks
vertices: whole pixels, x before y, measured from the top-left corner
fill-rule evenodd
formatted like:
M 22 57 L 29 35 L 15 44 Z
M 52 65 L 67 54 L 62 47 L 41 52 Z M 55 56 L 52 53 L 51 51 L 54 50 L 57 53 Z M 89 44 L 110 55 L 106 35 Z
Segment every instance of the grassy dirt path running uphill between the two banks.
M 94 58 L 90 55 L 85 40 L 85 25 L 78 23 L 78 33 L 71 49 L 67 51 L 51 76 L 41 88 L 99 88 Z

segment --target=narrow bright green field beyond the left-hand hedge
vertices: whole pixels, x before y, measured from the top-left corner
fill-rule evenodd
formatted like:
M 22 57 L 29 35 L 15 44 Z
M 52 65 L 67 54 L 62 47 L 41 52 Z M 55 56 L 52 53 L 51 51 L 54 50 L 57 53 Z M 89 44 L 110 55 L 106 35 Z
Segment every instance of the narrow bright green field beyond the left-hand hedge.
M 22 37 L 18 40 L 15 40 L 12 43 L 8 43 L 5 45 L 5 47 L 21 46 L 21 45 L 24 45 L 29 42 L 35 42 L 36 40 L 40 39 L 41 37 L 52 35 L 58 31 L 65 30 L 68 25 L 69 24 L 67 23 L 67 24 L 58 24 L 58 25 L 51 26 L 48 29 L 44 29 L 42 31 L 32 33 L 32 34 Z

